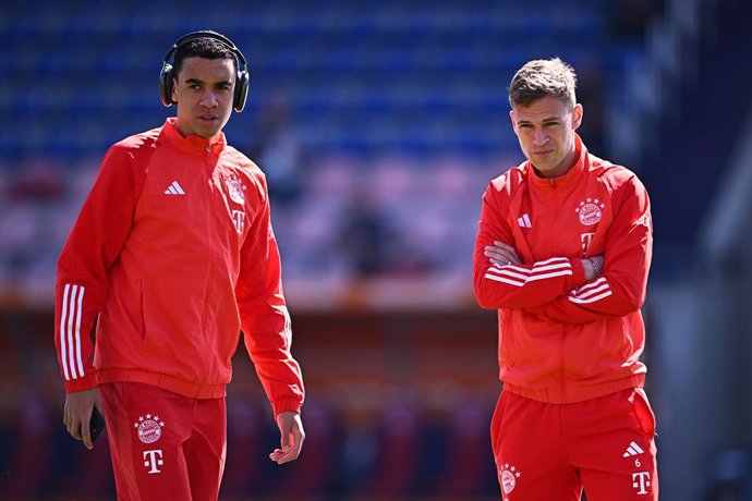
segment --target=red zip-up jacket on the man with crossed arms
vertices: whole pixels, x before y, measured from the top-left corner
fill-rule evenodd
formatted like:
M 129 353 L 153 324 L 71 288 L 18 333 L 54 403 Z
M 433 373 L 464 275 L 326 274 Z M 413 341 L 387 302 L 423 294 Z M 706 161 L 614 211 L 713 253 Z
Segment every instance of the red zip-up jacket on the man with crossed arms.
M 639 357 L 653 246 L 647 193 L 579 136 L 577 155 L 560 178 L 539 178 L 523 162 L 492 181 L 475 241 L 475 296 L 498 309 L 505 390 L 548 403 L 642 387 L 646 371 Z M 484 249 L 494 241 L 512 245 L 523 264 L 492 265 Z M 599 254 L 603 272 L 586 281 L 581 259 Z

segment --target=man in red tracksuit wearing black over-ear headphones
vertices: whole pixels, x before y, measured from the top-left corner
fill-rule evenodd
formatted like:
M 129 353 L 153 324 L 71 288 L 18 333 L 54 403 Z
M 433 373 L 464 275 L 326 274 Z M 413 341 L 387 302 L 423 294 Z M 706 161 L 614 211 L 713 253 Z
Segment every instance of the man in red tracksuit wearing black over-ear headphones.
M 92 449 L 105 415 L 118 499 L 217 499 L 241 329 L 281 433 L 270 459 L 303 445 L 266 179 L 221 132 L 247 89 L 228 38 L 178 40 L 160 75 L 177 117 L 108 150 L 58 261 L 63 421 Z

